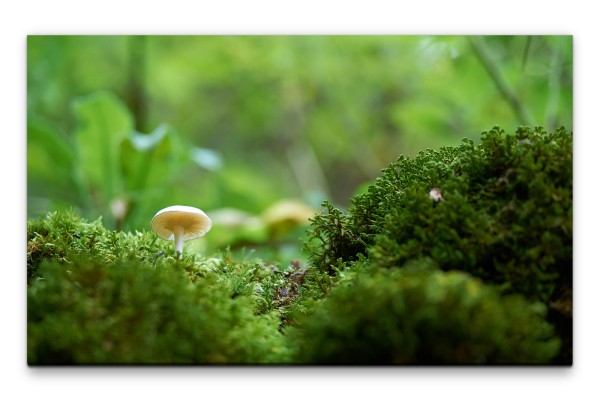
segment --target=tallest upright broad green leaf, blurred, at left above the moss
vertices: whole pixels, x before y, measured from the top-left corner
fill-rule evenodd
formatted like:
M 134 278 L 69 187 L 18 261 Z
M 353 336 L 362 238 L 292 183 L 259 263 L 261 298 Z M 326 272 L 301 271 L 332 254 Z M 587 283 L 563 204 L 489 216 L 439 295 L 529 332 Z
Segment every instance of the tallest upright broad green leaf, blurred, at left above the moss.
M 76 100 L 73 110 L 78 123 L 75 140 L 81 168 L 107 203 L 122 190 L 119 145 L 131 135 L 132 116 L 116 96 L 105 92 Z

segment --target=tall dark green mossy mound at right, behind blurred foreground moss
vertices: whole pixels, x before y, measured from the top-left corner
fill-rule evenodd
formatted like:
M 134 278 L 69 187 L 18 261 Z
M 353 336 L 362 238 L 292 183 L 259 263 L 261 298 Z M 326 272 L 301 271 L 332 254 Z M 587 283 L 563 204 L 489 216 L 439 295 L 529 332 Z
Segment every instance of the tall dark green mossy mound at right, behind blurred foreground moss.
M 329 206 L 314 219 L 312 261 L 327 270 L 361 253 L 382 267 L 431 257 L 548 302 L 572 281 L 572 151 L 564 129 L 494 128 L 480 145 L 401 157 L 347 215 Z

